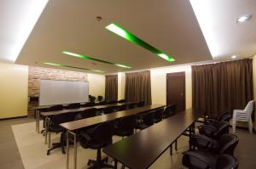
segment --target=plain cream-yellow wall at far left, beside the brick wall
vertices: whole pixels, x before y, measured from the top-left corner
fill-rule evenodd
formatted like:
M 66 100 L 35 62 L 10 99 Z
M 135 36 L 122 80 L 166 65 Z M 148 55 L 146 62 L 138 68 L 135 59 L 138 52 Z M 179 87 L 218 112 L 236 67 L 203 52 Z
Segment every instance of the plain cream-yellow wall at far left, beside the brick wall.
M 28 67 L 0 63 L 0 119 L 27 115 Z

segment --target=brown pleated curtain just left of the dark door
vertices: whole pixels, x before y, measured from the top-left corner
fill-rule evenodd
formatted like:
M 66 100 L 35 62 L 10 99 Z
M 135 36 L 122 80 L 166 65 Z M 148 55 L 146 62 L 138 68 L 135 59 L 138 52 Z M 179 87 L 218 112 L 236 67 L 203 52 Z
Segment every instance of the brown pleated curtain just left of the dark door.
M 125 100 L 127 102 L 145 101 L 151 104 L 150 71 L 125 74 Z

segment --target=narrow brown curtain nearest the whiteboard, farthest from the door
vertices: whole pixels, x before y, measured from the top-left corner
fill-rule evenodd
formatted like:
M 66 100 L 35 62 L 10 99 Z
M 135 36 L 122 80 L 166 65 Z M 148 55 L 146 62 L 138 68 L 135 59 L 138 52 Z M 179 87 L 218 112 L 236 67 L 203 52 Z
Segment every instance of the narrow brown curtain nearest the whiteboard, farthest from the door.
M 108 101 L 118 99 L 118 76 L 117 75 L 106 76 L 105 99 Z

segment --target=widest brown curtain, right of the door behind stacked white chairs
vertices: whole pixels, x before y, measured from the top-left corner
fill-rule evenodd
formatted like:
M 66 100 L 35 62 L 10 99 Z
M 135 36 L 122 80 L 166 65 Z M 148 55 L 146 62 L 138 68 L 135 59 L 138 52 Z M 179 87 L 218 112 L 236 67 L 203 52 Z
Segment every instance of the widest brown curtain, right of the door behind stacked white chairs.
M 244 109 L 253 99 L 252 59 L 193 65 L 192 95 L 193 108 L 207 114 Z

